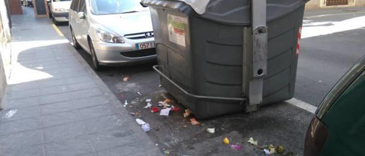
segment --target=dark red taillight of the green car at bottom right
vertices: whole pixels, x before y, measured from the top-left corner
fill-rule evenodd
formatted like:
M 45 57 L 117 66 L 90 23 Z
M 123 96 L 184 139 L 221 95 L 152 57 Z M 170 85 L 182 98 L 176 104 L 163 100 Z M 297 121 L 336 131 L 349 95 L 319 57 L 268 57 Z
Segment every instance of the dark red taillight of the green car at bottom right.
M 317 117 L 313 117 L 304 143 L 304 156 L 319 156 L 327 141 L 328 129 Z

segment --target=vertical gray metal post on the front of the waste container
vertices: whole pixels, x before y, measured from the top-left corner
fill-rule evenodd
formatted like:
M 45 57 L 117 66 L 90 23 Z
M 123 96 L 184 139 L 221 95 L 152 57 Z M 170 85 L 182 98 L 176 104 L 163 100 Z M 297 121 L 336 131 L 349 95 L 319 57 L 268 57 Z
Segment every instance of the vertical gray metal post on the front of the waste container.
M 263 94 L 263 85 L 264 85 L 264 76 L 267 73 L 267 45 L 268 45 L 268 27 L 266 27 L 266 0 L 252 0 L 251 1 L 251 33 L 247 33 L 246 31 L 246 39 L 247 35 L 251 35 L 252 39 L 252 47 L 246 48 L 246 50 L 251 49 L 251 55 L 245 54 L 244 56 L 250 56 L 249 59 L 246 59 L 245 72 L 252 72 L 249 74 L 250 77 L 247 78 L 248 90 L 248 99 L 249 103 L 246 109 L 246 112 L 251 112 L 258 109 L 258 104 L 262 102 L 262 94 Z M 244 50 L 245 50 L 244 45 Z M 247 53 L 248 51 L 246 51 Z M 250 66 L 247 66 L 247 63 L 251 62 Z M 247 70 L 247 67 L 251 69 Z M 247 88 L 246 88 L 247 89 Z

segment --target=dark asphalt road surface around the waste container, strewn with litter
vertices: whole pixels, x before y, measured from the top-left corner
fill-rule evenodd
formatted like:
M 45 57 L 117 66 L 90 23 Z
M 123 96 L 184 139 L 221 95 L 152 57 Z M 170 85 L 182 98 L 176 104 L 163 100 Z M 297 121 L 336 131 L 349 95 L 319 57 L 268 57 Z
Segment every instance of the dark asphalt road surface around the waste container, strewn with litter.
M 347 69 L 365 54 L 365 23 L 356 19 L 365 16 L 365 9 L 307 11 L 305 16 L 295 98 L 318 106 Z M 343 26 L 343 23 L 362 23 L 363 26 Z M 66 38 L 71 40 L 67 23 L 58 27 Z M 317 30 L 322 31 L 318 33 Z M 326 30 L 336 31 L 323 33 Z M 322 35 L 319 35 L 321 33 Z M 78 52 L 89 64 L 91 63 L 91 57 L 87 52 Z M 259 141 L 259 145 L 281 144 L 286 151 L 303 155 L 304 136 L 313 114 L 286 102 L 264 106 L 260 111 L 249 114 L 237 113 L 199 120 L 199 126 L 191 125 L 188 118 L 183 117 L 184 108 L 180 104 L 174 105 L 181 110 L 172 112 L 169 117 L 162 117 L 157 113 L 151 113 L 149 109 L 143 109 L 146 98 L 151 98 L 155 104 L 163 101 L 161 93 L 166 92 L 158 87 L 160 78 L 151 69 L 152 65 L 154 63 L 107 67 L 96 73 L 122 103 L 127 100 L 130 104 L 127 106 L 128 111 L 139 112 L 139 117 L 151 125 L 151 131 L 147 133 L 161 150 L 165 148 L 170 151 L 170 155 L 180 156 L 264 155 L 260 149 L 246 143 L 249 137 L 254 137 Z M 123 82 L 122 78 L 126 75 L 130 77 L 130 81 Z M 215 127 L 216 132 L 205 132 L 208 127 Z M 241 144 L 242 150 L 234 151 L 223 145 L 223 137 L 228 137 L 231 143 Z

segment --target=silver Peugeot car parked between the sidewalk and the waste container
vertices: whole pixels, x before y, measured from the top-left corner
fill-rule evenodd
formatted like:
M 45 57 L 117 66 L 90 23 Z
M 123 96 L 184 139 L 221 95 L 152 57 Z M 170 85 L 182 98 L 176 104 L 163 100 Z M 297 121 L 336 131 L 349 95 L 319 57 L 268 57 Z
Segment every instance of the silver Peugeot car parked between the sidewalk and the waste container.
M 101 65 L 156 60 L 150 11 L 140 0 L 72 0 L 69 26 L 75 48 Z

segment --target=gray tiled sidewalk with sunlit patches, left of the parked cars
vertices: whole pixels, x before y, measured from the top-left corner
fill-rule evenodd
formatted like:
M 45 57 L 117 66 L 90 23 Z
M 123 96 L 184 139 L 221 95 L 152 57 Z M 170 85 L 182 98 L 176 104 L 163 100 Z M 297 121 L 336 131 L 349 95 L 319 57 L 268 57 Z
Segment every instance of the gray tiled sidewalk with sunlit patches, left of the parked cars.
M 0 155 L 160 156 L 146 132 L 49 19 L 12 16 Z

